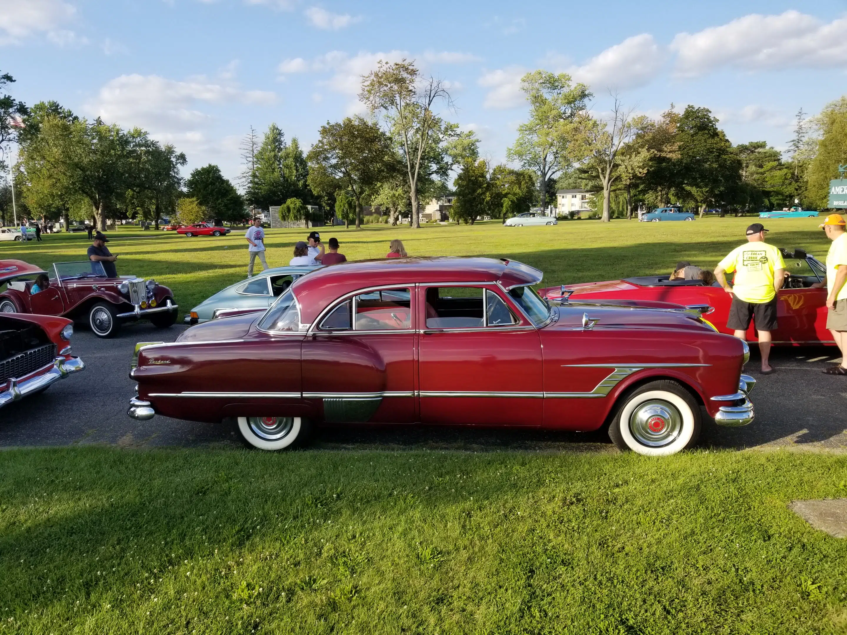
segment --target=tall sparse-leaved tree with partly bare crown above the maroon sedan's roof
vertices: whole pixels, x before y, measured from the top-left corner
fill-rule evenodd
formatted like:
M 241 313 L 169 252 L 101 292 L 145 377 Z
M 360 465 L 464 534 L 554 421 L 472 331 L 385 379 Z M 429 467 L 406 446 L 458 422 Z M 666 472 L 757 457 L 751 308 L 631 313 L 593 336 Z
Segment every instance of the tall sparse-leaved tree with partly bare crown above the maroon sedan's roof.
M 426 154 L 433 145 L 430 134 L 440 127 L 441 121 L 433 112 L 436 102 L 452 104 L 450 93 L 443 81 L 429 77 L 424 80 L 413 62 L 387 63 L 363 78 L 359 99 L 371 112 L 389 114 L 390 125 L 400 140 L 412 199 L 412 227 L 420 227 L 419 194 L 422 167 Z M 430 157 L 431 158 L 431 157 Z

